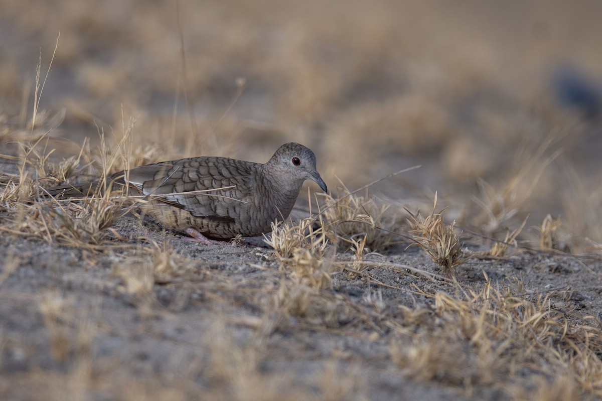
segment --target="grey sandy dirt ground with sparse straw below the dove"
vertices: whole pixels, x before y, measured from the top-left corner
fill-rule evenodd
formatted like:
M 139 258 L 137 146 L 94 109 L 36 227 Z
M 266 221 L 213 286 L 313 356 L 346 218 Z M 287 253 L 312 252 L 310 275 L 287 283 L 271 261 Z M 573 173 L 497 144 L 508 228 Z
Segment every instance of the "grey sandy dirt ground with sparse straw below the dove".
M 450 329 L 438 322 L 434 294 L 464 299 L 486 278 L 493 287 L 520 279 L 517 295 L 529 302 L 545 296 L 569 331 L 588 322 L 582 317 L 602 317 L 599 260 L 513 251 L 462 265 L 456 287 L 404 270 L 438 272 L 420 249 L 400 245 L 368 257 L 400 271 L 370 268 L 356 278 L 335 272 L 332 288 L 310 300 L 319 303 L 291 316 L 270 305 L 283 272 L 261 240 L 199 246 L 134 217 L 114 229 L 122 243 L 135 244 L 146 232 L 169 244 L 178 274 L 163 281 L 151 270 L 151 287 L 135 290 L 128 285 L 144 285 L 140 269 L 153 269 L 147 246 L 90 252 L 3 235 L 3 399 L 504 400 L 531 391 L 544 399 L 542 388 L 558 378 L 542 361 L 485 374 L 475 360 L 485 356 L 460 336 L 415 367 L 398 360 L 397 344 L 420 341 L 421 331 L 437 338 L 437 326 Z M 468 249 L 482 249 L 478 242 L 468 241 Z M 433 371 L 423 376 L 415 368 Z

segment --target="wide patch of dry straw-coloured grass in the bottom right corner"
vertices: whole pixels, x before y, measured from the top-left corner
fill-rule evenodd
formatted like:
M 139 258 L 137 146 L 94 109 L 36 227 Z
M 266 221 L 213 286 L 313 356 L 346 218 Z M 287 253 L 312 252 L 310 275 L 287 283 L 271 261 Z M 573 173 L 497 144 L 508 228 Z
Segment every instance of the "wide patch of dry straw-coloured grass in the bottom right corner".
M 602 362 L 595 356 L 601 344 L 588 339 L 599 335 L 600 329 L 569 324 L 548 297 L 530 300 L 488 281 L 482 290 L 470 290 L 464 297 L 439 292 L 434 298 L 439 323 L 421 319 L 418 335 L 391 348 L 394 361 L 412 377 L 469 389 L 503 388 L 531 370 L 541 379 L 565 378 L 570 386 L 562 394 L 570 395 L 568 399 L 599 392 L 598 385 L 586 383 L 602 378 Z M 400 332 L 407 334 L 404 329 Z M 579 365 L 582 368 L 575 370 Z M 500 378 L 508 382 L 501 384 Z M 530 394 L 545 399 L 542 394 L 550 393 L 538 387 Z

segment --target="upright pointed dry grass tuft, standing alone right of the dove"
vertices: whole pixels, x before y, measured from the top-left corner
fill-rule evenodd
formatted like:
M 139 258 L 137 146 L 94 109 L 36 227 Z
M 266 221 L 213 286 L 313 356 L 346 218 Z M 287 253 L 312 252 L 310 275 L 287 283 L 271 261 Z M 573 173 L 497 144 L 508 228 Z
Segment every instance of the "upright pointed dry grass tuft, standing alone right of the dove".
M 456 266 L 467 260 L 467 255 L 461 249 L 458 235 L 454 230 L 454 221 L 451 225 L 445 225 L 443 222 L 442 211 L 435 214 L 437 205 L 437 194 L 435 193 L 435 202 L 433 211 L 426 218 L 420 215 L 420 212 L 408 219 L 412 230 L 412 238 L 415 243 L 412 245 L 420 246 L 430 258 L 443 268 L 443 272 L 448 277 L 456 277 Z

